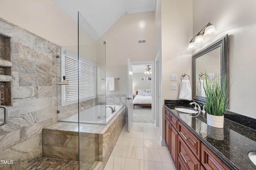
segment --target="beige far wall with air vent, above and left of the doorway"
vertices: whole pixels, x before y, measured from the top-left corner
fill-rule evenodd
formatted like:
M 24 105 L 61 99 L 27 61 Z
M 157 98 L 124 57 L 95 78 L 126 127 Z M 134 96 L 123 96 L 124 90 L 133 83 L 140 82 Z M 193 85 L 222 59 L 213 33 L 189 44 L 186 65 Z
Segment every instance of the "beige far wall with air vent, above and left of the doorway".
M 156 57 L 154 12 L 124 14 L 104 35 L 106 41 L 106 77 L 115 80 L 115 90 L 107 94 L 127 94 L 127 58 L 152 61 Z M 144 23 L 141 28 L 140 24 Z M 146 44 L 138 44 L 146 39 Z

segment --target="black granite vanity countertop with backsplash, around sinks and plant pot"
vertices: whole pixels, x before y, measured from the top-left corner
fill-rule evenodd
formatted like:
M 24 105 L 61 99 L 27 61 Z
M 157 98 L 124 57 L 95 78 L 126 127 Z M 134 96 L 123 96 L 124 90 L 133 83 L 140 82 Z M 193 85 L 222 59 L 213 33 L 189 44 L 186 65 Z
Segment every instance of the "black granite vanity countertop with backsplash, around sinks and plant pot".
M 179 100 L 177 100 L 179 101 Z M 256 130 L 224 119 L 224 128 L 207 125 L 206 114 L 191 117 L 174 109 L 176 106 L 188 106 L 189 101 L 165 101 L 165 107 L 171 111 L 192 133 L 194 133 L 212 152 L 233 170 L 256 170 L 248 157 L 248 152 L 256 150 Z

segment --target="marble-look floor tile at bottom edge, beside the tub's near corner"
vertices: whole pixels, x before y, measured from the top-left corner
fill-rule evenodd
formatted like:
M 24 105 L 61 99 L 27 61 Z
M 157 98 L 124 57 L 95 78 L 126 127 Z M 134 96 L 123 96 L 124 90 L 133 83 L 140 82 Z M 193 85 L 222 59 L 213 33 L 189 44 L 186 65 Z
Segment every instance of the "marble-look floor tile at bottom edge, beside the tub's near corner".
M 126 158 L 110 156 L 104 170 L 123 170 Z

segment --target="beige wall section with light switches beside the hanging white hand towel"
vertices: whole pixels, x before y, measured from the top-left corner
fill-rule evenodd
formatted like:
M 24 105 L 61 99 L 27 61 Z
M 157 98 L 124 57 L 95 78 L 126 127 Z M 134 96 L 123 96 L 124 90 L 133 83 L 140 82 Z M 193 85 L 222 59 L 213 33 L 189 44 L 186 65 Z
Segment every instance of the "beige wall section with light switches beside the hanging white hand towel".
M 192 54 L 186 51 L 192 36 L 192 1 L 162 0 L 162 106 L 164 100 L 177 100 L 179 90 L 170 90 L 170 85 L 180 85 L 182 73 L 192 74 Z M 178 75 L 178 81 L 170 81 L 171 74 Z M 192 79 L 190 78 L 190 84 Z M 164 129 L 164 107 L 162 129 Z M 160 133 L 164 138 L 164 131 Z

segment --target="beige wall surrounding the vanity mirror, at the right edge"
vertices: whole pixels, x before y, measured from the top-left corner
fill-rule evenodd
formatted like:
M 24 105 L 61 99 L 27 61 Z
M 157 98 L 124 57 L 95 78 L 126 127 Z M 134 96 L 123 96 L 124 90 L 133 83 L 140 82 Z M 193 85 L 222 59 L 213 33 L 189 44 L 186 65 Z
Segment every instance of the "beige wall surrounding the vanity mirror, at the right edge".
M 207 6 L 210 8 L 206 8 Z M 230 35 L 230 110 L 250 117 L 256 117 L 255 7 L 255 0 L 193 0 L 194 35 L 208 22 L 218 31 L 216 37 L 204 47 L 226 34 Z

